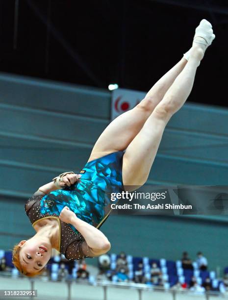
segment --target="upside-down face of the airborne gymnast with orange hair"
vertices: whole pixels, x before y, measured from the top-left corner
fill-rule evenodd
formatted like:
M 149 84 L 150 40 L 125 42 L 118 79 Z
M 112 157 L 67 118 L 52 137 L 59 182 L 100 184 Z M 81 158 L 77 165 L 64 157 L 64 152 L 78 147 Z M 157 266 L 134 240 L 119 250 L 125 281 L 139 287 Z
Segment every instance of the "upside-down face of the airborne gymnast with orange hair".
M 38 273 L 51 258 L 51 247 L 44 244 L 44 242 L 39 242 L 36 239 L 23 240 L 19 243 L 21 247 L 20 262 L 28 273 Z M 47 251 L 42 249 L 43 247 Z

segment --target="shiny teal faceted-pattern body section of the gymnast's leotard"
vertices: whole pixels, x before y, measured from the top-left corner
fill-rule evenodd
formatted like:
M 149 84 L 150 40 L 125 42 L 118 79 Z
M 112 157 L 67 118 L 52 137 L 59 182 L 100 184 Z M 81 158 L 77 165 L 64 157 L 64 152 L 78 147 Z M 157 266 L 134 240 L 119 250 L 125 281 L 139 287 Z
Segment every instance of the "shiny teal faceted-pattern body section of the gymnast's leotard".
M 81 170 L 81 182 L 55 190 L 40 201 L 40 214 L 59 215 L 68 206 L 76 216 L 100 228 L 109 215 L 111 193 L 124 190 L 122 181 L 123 151 L 107 154 L 88 162 Z M 76 228 L 72 226 L 76 232 Z

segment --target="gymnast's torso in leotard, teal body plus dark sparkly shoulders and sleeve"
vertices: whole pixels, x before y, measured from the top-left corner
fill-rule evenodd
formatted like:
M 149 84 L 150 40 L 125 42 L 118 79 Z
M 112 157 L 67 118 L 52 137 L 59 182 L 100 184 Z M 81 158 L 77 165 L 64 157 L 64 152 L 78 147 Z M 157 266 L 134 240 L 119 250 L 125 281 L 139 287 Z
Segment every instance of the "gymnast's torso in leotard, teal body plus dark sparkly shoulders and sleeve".
M 25 212 L 34 227 L 41 220 L 56 219 L 59 224 L 59 249 L 67 259 L 87 257 L 81 249 L 84 241 L 76 228 L 59 219 L 65 206 L 77 218 L 100 228 L 111 212 L 111 193 L 124 190 L 122 181 L 123 151 L 88 162 L 80 171 L 80 182 L 43 195 L 34 195 L 25 203 Z M 48 221 L 46 220 L 46 221 Z

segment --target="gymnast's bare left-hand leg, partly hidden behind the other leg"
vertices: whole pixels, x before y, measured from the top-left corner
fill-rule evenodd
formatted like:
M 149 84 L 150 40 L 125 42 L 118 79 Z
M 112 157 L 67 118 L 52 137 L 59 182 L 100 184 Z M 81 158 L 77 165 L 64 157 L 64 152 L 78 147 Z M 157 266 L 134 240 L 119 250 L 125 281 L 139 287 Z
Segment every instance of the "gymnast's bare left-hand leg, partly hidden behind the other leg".
M 182 57 L 170 71 L 153 85 L 138 105 L 117 117 L 105 128 L 92 150 L 89 161 L 127 148 L 186 63 L 187 60 Z

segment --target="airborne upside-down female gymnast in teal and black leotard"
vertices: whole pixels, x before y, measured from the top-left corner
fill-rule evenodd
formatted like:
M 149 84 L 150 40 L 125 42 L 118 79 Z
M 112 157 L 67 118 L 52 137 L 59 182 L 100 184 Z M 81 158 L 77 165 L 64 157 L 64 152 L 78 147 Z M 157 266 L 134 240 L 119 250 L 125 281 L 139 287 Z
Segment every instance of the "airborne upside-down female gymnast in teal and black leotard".
M 36 234 L 14 246 L 13 264 L 22 274 L 41 274 L 52 248 L 69 260 L 110 250 L 99 230 L 111 211 L 110 193 L 135 190 L 146 182 L 165 126 L 187 100 L 214 38 L 211 24 L 203 19 L 190 50 L 138 105 L 105 128 L 80 175 L 65 172 L 26 201 Z

